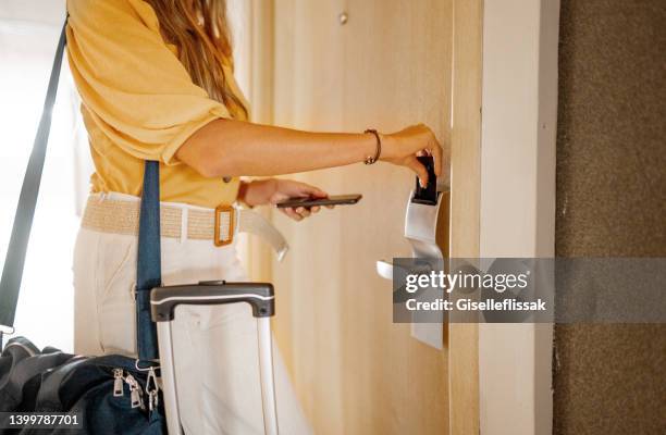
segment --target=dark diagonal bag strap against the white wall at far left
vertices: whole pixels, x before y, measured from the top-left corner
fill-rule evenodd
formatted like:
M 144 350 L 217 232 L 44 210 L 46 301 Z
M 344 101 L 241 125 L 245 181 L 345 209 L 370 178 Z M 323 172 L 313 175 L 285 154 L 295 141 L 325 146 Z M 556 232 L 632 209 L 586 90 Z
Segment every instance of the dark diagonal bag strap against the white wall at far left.
M 46 157 L 49 133 L 51 129 L 51 114 L 53 103 L 58 94 L 58 80 L 60 79 L 60 67 L 66 44 L 65 37 L 66 20 L 60 34 L 53 69 L 49 78 L 49 88 L 44 102 L 39 127 L 33 144 L 33 152 L 28 161 L 23 187 L 18 197 L 18 206 L 14 215 L 14 226 L 12 236 L 7 249 L 2 278 L 0 281 L 0 346 L 2 345 L 2 334 L 11 334 L 14 330 L 14 316 L 16 314 L 16 303 L 18 302 L 18 291 L 21 290 L 21 279 L 23 278 L 23 268 L 25 265 L 25 254 L 27 252 L 28 239 L 35 217 L 35 207 L 39 185 L 41 184 L 41 173 L 44 171 L 44 159 Z

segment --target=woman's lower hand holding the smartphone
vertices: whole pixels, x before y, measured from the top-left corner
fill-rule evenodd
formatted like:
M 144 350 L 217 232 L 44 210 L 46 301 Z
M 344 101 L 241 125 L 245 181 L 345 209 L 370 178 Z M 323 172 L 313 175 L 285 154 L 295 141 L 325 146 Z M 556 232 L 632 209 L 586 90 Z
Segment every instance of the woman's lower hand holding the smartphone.
M 250 207 L 276 204 L 289 198 L 311 197 L 326 198 L 329 194 L 310 186 L 309 184 L 291 179 L 269 178 L 250 183 L 243 182 L 238 191 L 238 199 Z M 319 212 L 319 207 L 307 209 L 305 207 L 279 209 L 294 221 L 301 221 L 311 213 Z

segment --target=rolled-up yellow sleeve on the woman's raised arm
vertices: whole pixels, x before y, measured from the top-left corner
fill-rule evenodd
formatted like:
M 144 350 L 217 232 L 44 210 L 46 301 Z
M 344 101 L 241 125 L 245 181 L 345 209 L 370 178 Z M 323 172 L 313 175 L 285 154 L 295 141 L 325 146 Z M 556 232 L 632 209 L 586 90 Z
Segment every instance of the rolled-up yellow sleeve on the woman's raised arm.
M 192 134 L 231 116 L 192 82 L 146 8 L 130 0 L 67 1 L 70 67 L 90 117 L 114 145 L 174 164 Z

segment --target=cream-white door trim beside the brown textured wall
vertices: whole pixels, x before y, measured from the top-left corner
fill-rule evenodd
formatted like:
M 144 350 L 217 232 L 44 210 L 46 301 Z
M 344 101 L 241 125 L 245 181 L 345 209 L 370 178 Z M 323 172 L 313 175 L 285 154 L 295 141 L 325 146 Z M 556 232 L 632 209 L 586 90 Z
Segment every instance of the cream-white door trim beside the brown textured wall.
M 485 0 L 479 257 L 553 258 L 559 0 Z M 479 325 L 483 435 L 551 434 L 553 324 Z

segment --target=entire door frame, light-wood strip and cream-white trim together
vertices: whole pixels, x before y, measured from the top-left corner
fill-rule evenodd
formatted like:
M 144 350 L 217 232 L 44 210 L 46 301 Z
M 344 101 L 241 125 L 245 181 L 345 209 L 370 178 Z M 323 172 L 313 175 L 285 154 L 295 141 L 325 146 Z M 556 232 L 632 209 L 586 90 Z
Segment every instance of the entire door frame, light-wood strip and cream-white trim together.
M 454 0 L 453 258 L 554 257 L 559 0 Z M 451 324 L 449 434 L 551 434 L 552 324 Z

